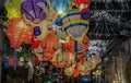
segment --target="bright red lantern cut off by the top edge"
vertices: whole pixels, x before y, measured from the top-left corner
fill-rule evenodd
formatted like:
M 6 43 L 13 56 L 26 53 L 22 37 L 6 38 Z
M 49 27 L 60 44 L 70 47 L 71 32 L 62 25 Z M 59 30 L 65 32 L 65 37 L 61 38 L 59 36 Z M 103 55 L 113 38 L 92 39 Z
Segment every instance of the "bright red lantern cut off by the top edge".
M 74 3 L 78 8 L 84 9 L 90 5 L 90 0 L 74 0 Z

